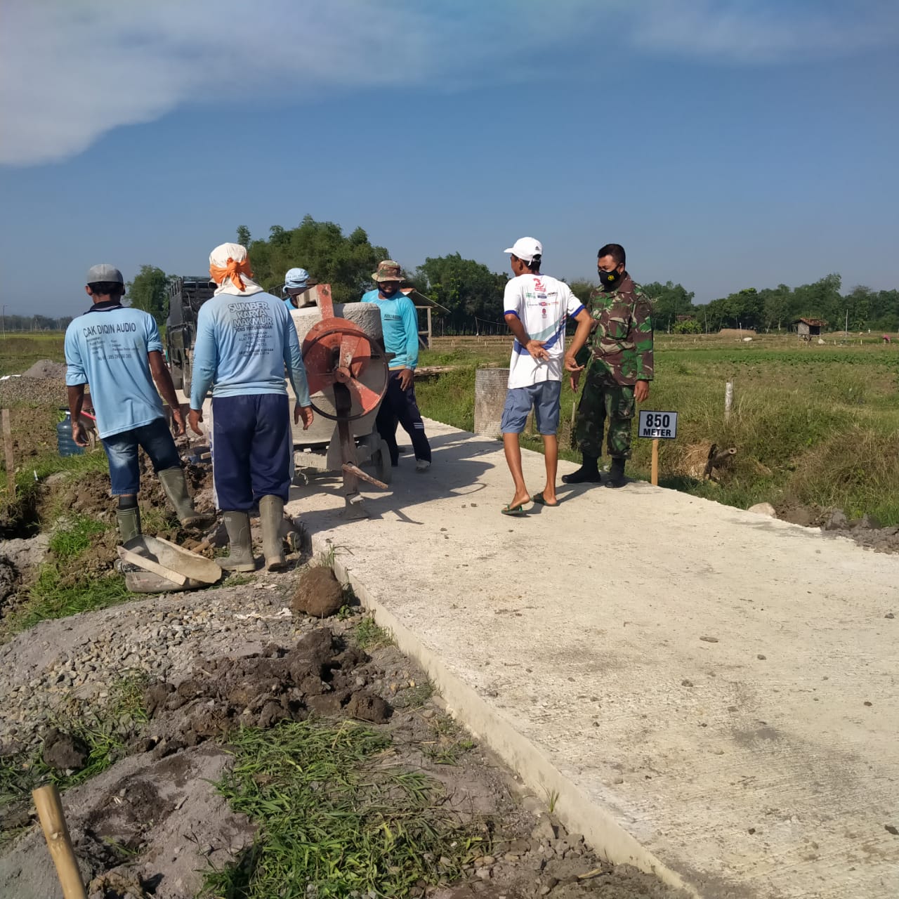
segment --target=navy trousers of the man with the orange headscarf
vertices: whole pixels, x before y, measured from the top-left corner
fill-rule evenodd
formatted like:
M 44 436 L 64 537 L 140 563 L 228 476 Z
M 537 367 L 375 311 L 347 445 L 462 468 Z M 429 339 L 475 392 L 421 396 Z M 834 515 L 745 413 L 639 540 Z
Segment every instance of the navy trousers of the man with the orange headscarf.
M 212 477 L 218 508 L 247 512 L 290 488 L 290 411 L 284 394 L 213 396 Z

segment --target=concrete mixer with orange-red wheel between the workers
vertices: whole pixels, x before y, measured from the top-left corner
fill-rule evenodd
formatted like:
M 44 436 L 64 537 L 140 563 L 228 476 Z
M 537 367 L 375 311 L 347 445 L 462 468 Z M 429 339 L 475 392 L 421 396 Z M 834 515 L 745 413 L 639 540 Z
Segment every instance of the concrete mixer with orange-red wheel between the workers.
M 373 303 L 334 304 L 328 284 L 307 290 L 303 303 L 290 316 L 316 418 L 307 431 L 294 425 L 296 476 L 308 481 L 316 473 L 341 472 L 345 513 L 360 518 L 366 512 L 359 481 L 387 489 L 391 475 L 387 444 L 375 429 L 387 392 L 380 310 Z M 377 478 L 361 469 L 369 462 Z

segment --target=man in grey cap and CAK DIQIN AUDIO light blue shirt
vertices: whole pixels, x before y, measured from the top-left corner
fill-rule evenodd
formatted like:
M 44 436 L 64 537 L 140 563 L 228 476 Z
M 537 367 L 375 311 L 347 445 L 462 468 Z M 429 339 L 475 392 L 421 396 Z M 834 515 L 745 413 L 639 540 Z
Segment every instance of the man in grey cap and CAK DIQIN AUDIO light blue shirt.
M 111 492 L 118 497 L 116 521 L 120 539 L 128 543 L 140 534 L 138 447 L 153 463 L 182 524 L 200 524 L 205 516 L 194 511 L 159 396 L 162 394 L 171 408 L 178 432 L 184 433 L 181 405 L 165 366 L 156 320 L 141 309 L 122 306 L 125 282 L 121 272 L 111 265 L 94 265 L 87 272 L 85 290 L 93 299 L 93 306 L 85 315 L 73 319 L 66 330 L 72 438 L 78 446 L 87 446 L 81 410 L 88 385 L 97 432 L 109 458 Z

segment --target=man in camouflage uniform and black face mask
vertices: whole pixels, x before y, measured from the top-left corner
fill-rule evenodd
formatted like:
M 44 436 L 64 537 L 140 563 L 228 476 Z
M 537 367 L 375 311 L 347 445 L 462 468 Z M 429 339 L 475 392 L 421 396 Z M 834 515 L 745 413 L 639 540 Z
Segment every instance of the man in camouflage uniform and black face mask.
M 625 271 L 625 260 L 624 247 L 619 244 L 607 244 L 597 254 L 600 286 L 586 304 L 594 322 L 590 352 L 585 349 L 579 354 L 582 347 L 575 340 L 565 355 L 574 390 L 583 363 L 589 359 L 572 435 L 583 462 L 577 471 L 562 476 L 565 484 L 600 483 L 604 427 L 608 428 L 611 457 L 605 485 L 622 487 L 626 483 L 624 464 L 630 458 L 635 400 L 645 401 L 653 379 L 653 320 L 650 302 Z

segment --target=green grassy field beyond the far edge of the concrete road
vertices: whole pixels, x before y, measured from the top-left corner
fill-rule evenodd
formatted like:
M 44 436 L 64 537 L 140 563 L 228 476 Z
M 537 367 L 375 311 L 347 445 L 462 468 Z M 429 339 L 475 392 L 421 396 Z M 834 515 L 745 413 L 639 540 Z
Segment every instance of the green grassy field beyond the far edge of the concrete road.
M 655 379 L 642 408 L 680 414 L 677 440 L 660 444 L 660 485 L 742 508 L 840 507 L 850 517 L 867 512 L 899 524 L 899 347 L 832 339 L 801 345 L 795 335 L 752 343 L 657 335 Z M 471 430 L 476 364 L 504 366 L 508 354 L 501 341 L 423 353 L 423 365 L 463 366 L 416 385 L 423 414 Z M 734 411 L 725 421 L 727 380 Z M 560 455 L 579 460 L 571 446 L 574 401 L 565 378 Z M 688 450 L 708 442 L 737 449 L 717 484 L 686 472 Z M 522 434 L 521 443 L 542 449 L 539 435 Z M 635 437 L 630 476 L 648 479 L 651 452 L 652 441 Z

